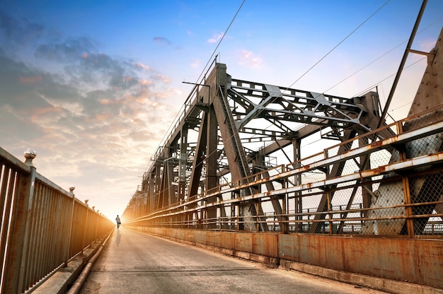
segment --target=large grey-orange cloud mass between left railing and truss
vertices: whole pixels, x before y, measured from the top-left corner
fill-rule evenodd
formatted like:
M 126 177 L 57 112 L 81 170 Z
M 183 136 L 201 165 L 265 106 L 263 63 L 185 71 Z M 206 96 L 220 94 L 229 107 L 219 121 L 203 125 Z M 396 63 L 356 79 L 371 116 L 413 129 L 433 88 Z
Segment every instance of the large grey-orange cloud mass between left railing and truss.
M 88 37 L 45 34 L 42 25 L 0 16 L 0 41 L 8 41 L 0 42 L 1 147 L 18 157 L 35 148 L 42 175 L 76 186 L 100 211 L 103 195 L 121 210 L 176 116 L 180 105 L 168 100 L 177 91 L 168 76 L 101 52 Z M 33 59 L 16 54 L 20 46 Z

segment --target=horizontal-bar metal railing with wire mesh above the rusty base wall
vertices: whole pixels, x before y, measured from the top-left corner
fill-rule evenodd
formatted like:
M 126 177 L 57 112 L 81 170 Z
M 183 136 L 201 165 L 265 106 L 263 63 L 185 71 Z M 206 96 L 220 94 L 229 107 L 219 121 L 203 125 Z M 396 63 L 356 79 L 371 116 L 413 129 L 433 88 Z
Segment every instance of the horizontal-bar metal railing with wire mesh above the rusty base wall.
M 159 196 L 141 194 L 125 219 L 166 228 L 441 238 L 443 122 L 432 117 L 442 112 L 408 117 L 146 215 L 137 212 L 146 211 L 149 197 Z M 415 129 L 405 131 L 412 123 Z M 382 129 L 392 136 L 382 138 Z M 350 148 L 340 153 L 345 144 Z M 330 177 L 336 167 L 340 176 Z M 245 205 L 255 206 L 256 216 L 242 216 L 239 208 Z M 214 210 L 217 217 L 209 217 Z

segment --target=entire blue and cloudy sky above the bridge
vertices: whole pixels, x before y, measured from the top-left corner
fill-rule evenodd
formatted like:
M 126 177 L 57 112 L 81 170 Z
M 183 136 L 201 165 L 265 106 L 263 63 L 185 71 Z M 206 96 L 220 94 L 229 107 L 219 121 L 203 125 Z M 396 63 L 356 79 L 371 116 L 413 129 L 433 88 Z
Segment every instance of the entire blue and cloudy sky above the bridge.
M 419 0 L 0 0 L 0 147 L 121 214 L 208 62 L 233 78 L 345 98 L 389 95 Z M 412 49 L 429 52 L 443 1 Z M 410 54 L 389 106 L 403 119 L 426 60 Z M 187 82 L 187 83 L 183 83 Z

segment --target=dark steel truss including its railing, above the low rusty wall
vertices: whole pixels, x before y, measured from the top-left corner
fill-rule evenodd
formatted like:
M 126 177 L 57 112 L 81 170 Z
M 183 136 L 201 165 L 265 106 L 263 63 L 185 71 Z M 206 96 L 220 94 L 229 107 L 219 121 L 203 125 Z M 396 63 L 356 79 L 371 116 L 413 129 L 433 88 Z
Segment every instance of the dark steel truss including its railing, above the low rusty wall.
M 410 117 L 389 126 L 375 92 L 341 98 L 242 81 L 214 62 L 156 151 L 125 218 L 284 233 L 441 230 L 441 39 L 427 54 Z M 302 142 L 313 136 L 322 139 L 316 144 L 338 145 L 304 158 Z M 415 166 L 423 156 L 426 163 Z

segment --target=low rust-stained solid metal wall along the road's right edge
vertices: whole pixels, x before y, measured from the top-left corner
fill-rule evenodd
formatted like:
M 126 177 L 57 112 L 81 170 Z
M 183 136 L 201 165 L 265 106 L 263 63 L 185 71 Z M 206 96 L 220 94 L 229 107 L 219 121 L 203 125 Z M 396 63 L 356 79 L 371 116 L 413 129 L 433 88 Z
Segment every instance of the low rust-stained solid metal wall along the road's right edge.
M 277 257 L 354 274 L 443 288 L 443 240 L 232 232 L 207 234 L 198 230 L 146 227 L 144 230 L 163 237 L 174 237 L 178 241 L 197 239 L 200 245 L 209 246 L 216 243 L 214 240 L 220 240 L 220 247 L 211 245 L 219 250 Z M 207 236 L 206 240 L 204 236 Z

